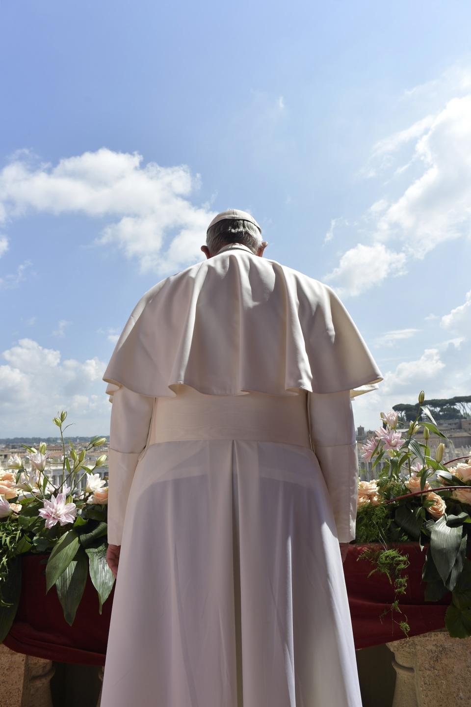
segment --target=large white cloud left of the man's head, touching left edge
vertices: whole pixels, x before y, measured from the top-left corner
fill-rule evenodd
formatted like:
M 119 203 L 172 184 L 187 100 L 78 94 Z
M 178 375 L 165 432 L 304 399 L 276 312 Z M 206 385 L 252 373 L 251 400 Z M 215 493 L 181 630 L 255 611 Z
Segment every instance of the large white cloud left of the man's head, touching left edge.
M 31 211 L 108 219 L 95 246 L 116 246 L 137 260 L 141 272 L 165 274 L 203 259 L 200 247 L 216 212 L 189 199 L 200 175 L 191 175 L 186 165 L 142 161 L 136 152 L 107 148 L 55 166 L 16 153 L 0 172 L 0 214 L 4 222 Z

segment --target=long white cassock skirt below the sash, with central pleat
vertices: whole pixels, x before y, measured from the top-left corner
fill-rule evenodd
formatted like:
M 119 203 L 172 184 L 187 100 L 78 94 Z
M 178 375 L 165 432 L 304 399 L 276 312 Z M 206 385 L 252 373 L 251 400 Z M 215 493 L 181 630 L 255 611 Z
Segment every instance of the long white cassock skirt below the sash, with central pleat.
M 362 707 L 313 450 L 242 439 L 146 448 L 126 508 L 101 700 L 131 704 Z

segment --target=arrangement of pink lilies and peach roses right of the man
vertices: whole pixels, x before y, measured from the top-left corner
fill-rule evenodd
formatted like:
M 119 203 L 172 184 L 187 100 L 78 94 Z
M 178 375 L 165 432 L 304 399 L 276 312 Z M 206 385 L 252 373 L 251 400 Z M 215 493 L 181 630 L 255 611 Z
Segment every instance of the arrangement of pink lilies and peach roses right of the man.
M 439 601 L 451 592 L 446 628 L 450 636 L 466 638 L 471 635 L 471 457 L 442 464 L 443 442 L 431 456 L 430 433 L 447 438 L 423 403 L 422 390 L 419 412 L 405 436 L 397 430 L 398 413 L 382 412 L 383 426 L 363 445 L 365 461 L 371 461 L 373 468 L 381 461 L 383 464 L 377 479 L 359 481 L 355 541 L 379 542 L 383 549 L 366 548 L 358 559 L 369 559 L 375 566 L 371 573 L 386 573 L 391 584 L 394 573 L 391 612 L 400 611 L 398 595 L 407 586 L 407 577 L 401 572 L 408 566 L 408 556 L 390 544 L 400 547 L 403 542 L 419 542 L 420 549 L 426 550 L 424 598 Z M 421 429 L 423 443 L 415 439 Z M 453 462 L 458 463 L 448 467 Z M 399 623 L 407 635 L 407 617 Z

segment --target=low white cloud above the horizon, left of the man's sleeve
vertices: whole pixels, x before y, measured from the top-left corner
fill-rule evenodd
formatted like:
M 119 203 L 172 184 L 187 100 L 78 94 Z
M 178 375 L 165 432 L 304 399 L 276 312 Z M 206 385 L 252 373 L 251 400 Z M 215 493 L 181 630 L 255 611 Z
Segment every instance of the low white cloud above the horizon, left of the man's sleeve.
M 3 437 L 57 436 L 52 422 L 67 410 L 67 434 L 109 433 L 109 401 L 93 389 L 102 380 L 105 363 L 98 358 L 84 362 L 61 361 L 60 351 L 46 349 L 32 339 L 19 339 L 2 352 L 0 365 L 0 426 Z

